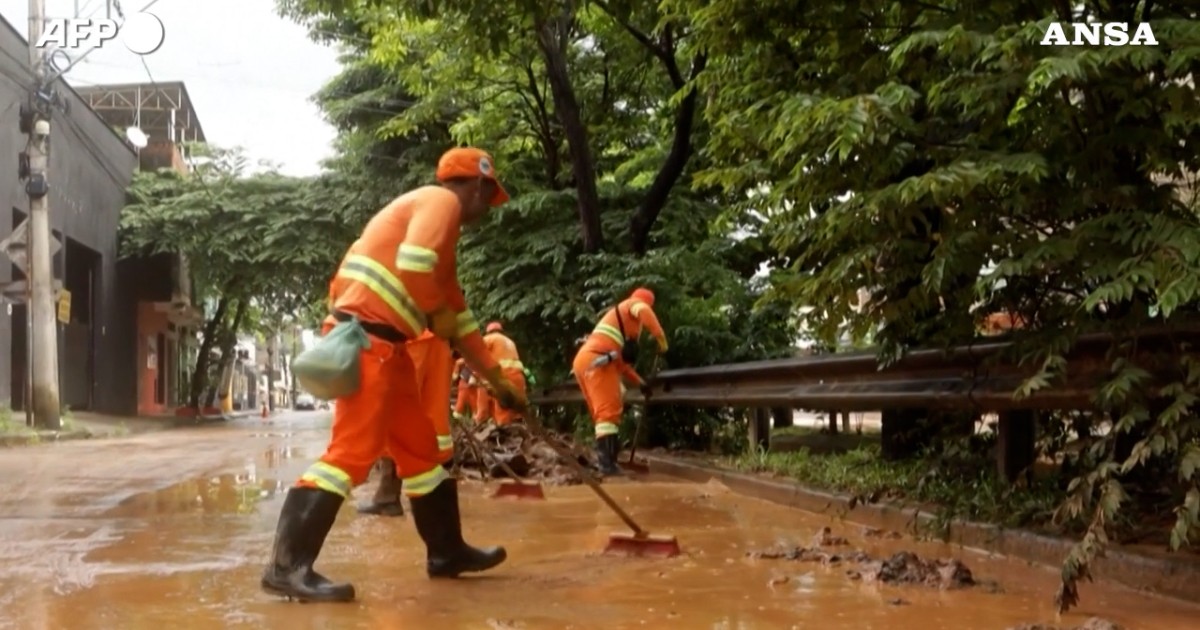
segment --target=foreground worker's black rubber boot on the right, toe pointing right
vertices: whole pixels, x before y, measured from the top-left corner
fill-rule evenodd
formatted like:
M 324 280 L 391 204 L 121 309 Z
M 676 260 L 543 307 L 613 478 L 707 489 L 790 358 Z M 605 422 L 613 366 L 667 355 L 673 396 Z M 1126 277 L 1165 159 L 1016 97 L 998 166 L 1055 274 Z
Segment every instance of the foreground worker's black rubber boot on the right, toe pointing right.
M 412 497 L 413 522 L 425 541 L 430 577 L 458 577 L 486 571 L 508 558 L 504 547 L 475 548 L 462 539 L 458 515 L 458 481 L 446 479 L 424 497 Z

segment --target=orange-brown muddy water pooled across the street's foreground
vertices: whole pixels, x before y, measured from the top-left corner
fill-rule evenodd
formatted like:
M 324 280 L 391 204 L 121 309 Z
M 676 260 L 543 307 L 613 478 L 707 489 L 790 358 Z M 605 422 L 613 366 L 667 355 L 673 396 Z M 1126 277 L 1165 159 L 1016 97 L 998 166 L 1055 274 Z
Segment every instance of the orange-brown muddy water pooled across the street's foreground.
M 260 488 L 247 481 L 241 480 L 244 487 Z M 41 584 L 42 595 L 26 599 L 29 605 L 18 619 L 52 624 L 46 628 L 80 629 L 1000 630 L 1032 623 L 1075 628 L 1100 617 L 1124 628 L 1171 630 L 1193 628 L 1200 613 L 1182 604 L 1088 587 L 1080 611 L 1058 619 L 1050 601 L 1052 571 L 895 540 L 886 533 L 710 486 L 654 481 L 611 487 L 644 527 L 677 535 L 683 557 L 600 556 L 608 533 L 622 528 L 586 487 L 547 487 L 545 502 L 506 502 L 487 498 L 494 484 L 464 484 L 467 538 L 476 544 L 505 544 L 510 559 L 500 570 L 457 582 L 428 581 L 422 575 L 424 547 L 408 518 L 364 517 L 353 505 L 344 505 L 318 569 L 332 578 L 353 581 L 360 601 L 348 606 L 289 605 L 258 590 L 281 496 L 263 497 L 251 512 L 227 511 L 236 500 L 236 475 L 188 484 L 155 499 L 170 508 L 146 512 L 154 527 L 86 554 L 88 563 L 102 568 L 92 571 L 86 588 L 72 589 L 67 598 L 53 595 L 49 584 Z M 205 511 L 197 506 L 196 497 L 204 493 L 211 497 L 211 505 L 221 508 Z M 139 500 L 139 509 L 145 509 L 149 499 Z M 203 504 L 205 499 L 199 500 Z M 188 509 L 172 511 L 178 505 Z M 162 514 L 172 517 L 156 520 Z M 211 518 L 223 514 L 242 516 Z M 848 562 L 786 562 L 750 554 L 804 545 L 827 553 L 860 550 L 870 562 L 901 553 L 922 560 L 948 558 L 968 566 L 972 581 L 1002 588 L 929 588 L 922 580 L 894 586 L 888 580 L 850 578 Z M 868 565 L 868 560 L 860 564 Z M 906 560 L 901 565 L 913 564 Z M 76 571 L 83 575 L 83 569 Z

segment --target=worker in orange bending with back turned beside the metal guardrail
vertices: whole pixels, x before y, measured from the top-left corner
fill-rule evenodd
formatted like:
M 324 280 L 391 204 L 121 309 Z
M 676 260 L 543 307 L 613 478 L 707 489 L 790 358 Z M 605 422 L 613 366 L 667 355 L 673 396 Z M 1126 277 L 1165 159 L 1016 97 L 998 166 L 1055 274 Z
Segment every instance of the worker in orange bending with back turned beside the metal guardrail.
M 642 330 L 658 340 L 659 353 L 667 352 L 666 334 L 654 314 L 654 293 L 646 288 L 634 290 L 628 299 L 600 318 L 600 323 L 592 329 L 576 353 L 572 365 L 575 380 L 580 383 L 595 425 L 600 473 L 607 476 L 620 474 L 617 466 L 617 455 L 620 452 L 617 433 L 620 431 L 620 416 L 625 412 L 622 377 L 649 395 L 646 380 L 631 366 L 637 360 L 637 338 Z

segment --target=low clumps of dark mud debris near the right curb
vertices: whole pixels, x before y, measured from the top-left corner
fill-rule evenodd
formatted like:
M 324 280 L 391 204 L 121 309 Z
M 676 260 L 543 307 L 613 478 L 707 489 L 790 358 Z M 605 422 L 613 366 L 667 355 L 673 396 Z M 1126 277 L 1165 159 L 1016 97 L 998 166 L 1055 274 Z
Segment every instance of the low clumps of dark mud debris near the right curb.
M 977 586 L 971 570 L 955 559 L 926 560 L 910 551 L 900 551 L 889 558 L 871 558 L 858 550 L 836 551 L 847 547 L 850 541 L 836 536 L 824 527 L 809 547 L 775 548 L 750 552 L 751 558 L 781 559 L 793 562 L 815 562 L 826 565 L 852 563 L 858 566 L 846 571 L 851 580 L 880 582 L 884 584 L 920 584 L 940 589 L 956 589 Z M 830 548 L 834 547 L 834 548 Z

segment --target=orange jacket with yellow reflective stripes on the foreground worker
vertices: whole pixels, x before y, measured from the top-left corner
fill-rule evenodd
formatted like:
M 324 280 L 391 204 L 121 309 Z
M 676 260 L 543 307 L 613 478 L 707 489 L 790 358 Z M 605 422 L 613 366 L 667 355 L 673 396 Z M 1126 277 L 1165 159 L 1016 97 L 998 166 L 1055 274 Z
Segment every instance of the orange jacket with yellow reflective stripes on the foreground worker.
M 440 186 L 407 192 L 367 222 L 329 286 L 332 308 L 365 322 L 391 325 L 409 338 L 426 331 L 427 313 L 448 307 L 458 314 L 455 341 L 481 370 L 494 370 L 458 284 L 462 208 Z

